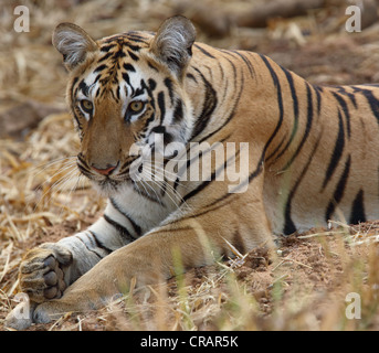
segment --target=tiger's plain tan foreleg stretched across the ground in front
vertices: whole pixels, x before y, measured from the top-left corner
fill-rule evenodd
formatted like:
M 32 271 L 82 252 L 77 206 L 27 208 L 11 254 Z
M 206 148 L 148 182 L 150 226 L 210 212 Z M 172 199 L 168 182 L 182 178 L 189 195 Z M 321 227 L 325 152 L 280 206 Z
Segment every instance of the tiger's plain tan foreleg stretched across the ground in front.
M 66 311 L 102 307 L 113 296 L 125 292 L 133 278 L 137 287 L 169 278 L 173 275 L 173 254 L 178 252 L 182 268 L 188 269 L 213 263 L 214 253 L 231 254 L 227 240 L 243 250 L 272 247 L 261 203 L 246 210 L 245 218 L 255 220 L 254 226 L 251 220 L 243 224 L 241 214 L 233 215 L 232 206 L 222 208 L 225 207 L 196 218 L 183 217 L 114 252 L 69 287 L 61 299 L 40 304 L 34 311 L 34 321 L 49 322 Z M 225 212 L 229 212 L 228 217 Z M 242 229 L 246 233 L 242 234 Z

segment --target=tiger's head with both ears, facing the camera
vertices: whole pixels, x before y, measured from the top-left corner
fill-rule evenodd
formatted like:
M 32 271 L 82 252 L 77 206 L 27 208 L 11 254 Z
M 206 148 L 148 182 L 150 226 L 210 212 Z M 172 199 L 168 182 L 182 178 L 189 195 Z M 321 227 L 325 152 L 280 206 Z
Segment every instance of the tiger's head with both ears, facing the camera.
M 166 20 L 156 34 L 99 41 L 75 24 L 56 26 L 53 45 L 70 72 L 67 103 L 81 138 L 77 165 L 103 192 L 130 182 L 130 164 L 143 158 L 136 146 L 188 142 L 192 108 L 183 77 L 194 36 L 183 17 Z

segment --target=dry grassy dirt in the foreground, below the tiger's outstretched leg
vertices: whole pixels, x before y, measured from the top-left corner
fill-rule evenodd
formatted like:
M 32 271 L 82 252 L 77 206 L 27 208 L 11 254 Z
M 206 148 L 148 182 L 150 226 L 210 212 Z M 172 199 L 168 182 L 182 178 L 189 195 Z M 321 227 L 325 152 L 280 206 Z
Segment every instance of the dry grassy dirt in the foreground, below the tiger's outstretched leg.
M 379 248 L 368 243 L 378 229 L 379 222 L 369 222 L 281 238 L 274 256 L 256 249 L 191 269 L 183 278 L 137 291 L 102 310 L 67 313 L 28 330 L 378 330 Z M 76 222 L 63 222 L 23 246 L 55 242 L 75 231 Z M 349 293 L 361 300 L 359 319 L 347 317 Z M 0 320 L 8 312 L 3 306 Z

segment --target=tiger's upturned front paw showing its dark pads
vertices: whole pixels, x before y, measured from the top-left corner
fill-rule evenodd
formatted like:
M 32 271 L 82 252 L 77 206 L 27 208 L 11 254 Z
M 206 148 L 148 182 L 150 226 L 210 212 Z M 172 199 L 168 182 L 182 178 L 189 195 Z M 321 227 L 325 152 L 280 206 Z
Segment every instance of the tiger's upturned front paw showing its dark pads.
M 20 265 L 20 289 L 33 302 L 61 298 L 66 288 L 63 267 L 72 263 L 66 248 L 45 243 L 27 253 Z

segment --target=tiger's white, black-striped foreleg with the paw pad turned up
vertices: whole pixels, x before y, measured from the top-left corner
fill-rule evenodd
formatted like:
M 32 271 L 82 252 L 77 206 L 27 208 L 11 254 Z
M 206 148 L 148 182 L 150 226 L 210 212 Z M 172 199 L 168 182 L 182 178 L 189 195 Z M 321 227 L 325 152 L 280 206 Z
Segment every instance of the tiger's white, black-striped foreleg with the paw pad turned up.
M 130 220 L 109 202 L 104 216 L 88 229 L 28 252 L 20 265 L 20 290 L 32 302 L 57 299 L 102 258 L 137 236 Z

